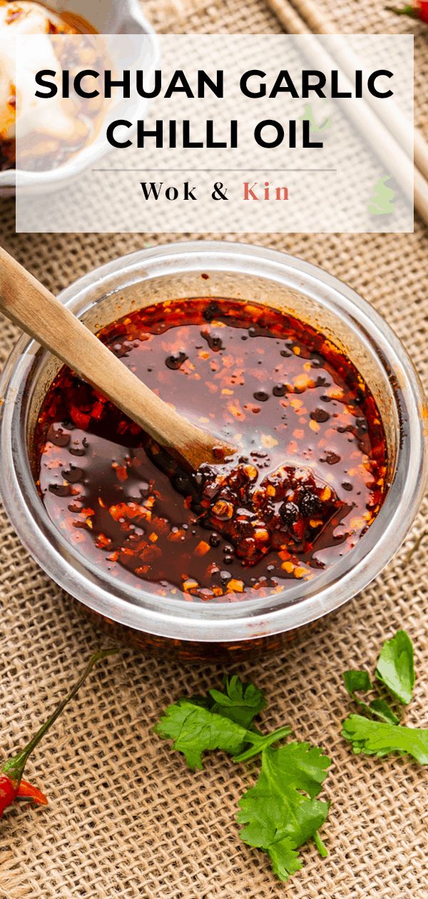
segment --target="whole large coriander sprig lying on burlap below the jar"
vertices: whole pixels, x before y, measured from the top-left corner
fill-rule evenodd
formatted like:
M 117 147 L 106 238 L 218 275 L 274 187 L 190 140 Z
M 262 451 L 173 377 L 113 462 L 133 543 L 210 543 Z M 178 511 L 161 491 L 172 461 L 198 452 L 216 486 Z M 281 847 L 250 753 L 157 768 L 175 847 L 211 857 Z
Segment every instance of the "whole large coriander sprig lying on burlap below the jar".
M 190 768 L 202 768 L 202 754 L 219 749 L 234 761 L 261 756 L 261 770 L 254 787 L 239 800 L 236 820 L 246 826 L 242 840 L 268 853 L 274 873 L 281 880 L 302 867 L 299 847 L 313 839 L 321 856 L 327 851 L 318 830 L 325 823 L 329 803 L 317 799 L 330 759 L 309 743 L 278 743 L 291 733 L 284 726 L 262 734 L 254 725 L 266 705 L 261 690 L 239 678 L 225 679 L 223 690 L 209 690 L 206 697 L 180 699 L 165 709 L 156 734 L 173 740 Z

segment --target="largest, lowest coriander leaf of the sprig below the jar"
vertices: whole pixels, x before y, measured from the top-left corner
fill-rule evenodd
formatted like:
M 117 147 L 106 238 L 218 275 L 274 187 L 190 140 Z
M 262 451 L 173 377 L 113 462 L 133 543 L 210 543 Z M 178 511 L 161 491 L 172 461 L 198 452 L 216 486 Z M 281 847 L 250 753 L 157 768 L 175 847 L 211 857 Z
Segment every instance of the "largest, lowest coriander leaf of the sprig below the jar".
M 239 801 L 237 821 L 247 826 L 241 838 L 268 852 L 281 880 L 301 868 L 299 846 L 313 838 L 325 822 L 329 804 L 316 797 L 330 759 L 310 743 L 287 743 L 262 753 L 262 770 L 254 787 Z M 306 794 L 306 795 L 305 795 Z

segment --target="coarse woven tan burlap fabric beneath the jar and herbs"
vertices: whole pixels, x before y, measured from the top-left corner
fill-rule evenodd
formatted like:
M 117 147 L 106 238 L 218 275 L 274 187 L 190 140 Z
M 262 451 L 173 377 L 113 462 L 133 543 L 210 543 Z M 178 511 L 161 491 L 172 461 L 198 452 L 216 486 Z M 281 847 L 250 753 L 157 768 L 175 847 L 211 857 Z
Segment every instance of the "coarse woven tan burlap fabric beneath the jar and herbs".
M 323 5 L 323 4 L 320 4 Z M 371 0 L 325 0 L 342 31 L 415 31 L 416 120 L 427 121 L 428 31 Z M 263 0 L 153 2 L 147 13 L 169 31 L 279 31 Z M 428 132 L 425 131 L 428 137 Z M 94 265 L 167 236 L 13 235 L 13 202 L 0 203 L 1 242 L 58 290 Z M 176 236 L 175 236 L 176 238 Z M 422 378 L 426 360 L 426 233 L 407 236 L 276 236 L 249 239 L 288 250 L 348 281 L 388 318 Z M 16 337 L 1 325 L 2 361 Z M 262 853 L 238 838 L 234 817 L 252 770 L 213 756 L 196 774 L 152 734 L 165 705 L 218 682 L 221 667 L 183 666 L 130 650 L 103 663 L 29 765 L 49 793 L 47 809 L 9 811 L 0 828 L 4 899 L 426 899 L 426 770 L 409 761 L 353 756 L 340 736 L 350 708 L 341 675 L 372 671 L 382 641 L 405 627 L 415 641 L 419 680 L 407 719 L 426 725 L 428 708 L 428 537 L 419 515 L 393 562 L 368 590 L 299 636 L 281 654 L 236 665 L 264 688 L 265 723 L 290 723 L 299 739 L 333 758 L 332 802 L 322 860 L 282 886 Z M 12 752 L 53 708 L 94 647 L 105 642 L 22 549 L 2 519 L 0 556 L 1 752 Z

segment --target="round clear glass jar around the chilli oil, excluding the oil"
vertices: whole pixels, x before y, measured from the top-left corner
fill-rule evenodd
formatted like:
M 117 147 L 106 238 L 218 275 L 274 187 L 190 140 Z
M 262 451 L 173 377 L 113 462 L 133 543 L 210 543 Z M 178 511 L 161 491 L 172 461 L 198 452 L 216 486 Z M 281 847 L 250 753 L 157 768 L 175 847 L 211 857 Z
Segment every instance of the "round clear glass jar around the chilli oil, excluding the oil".
M 387 565 L 424 492 L 427 409 L 404 347 L 351 288 L 290 255 L 201 240 L 124 256 L 77 280 L 60 297 L 94 332 L 165 299 L 227 297 L 282 309 L 314 325 L 352 360 L 377 401 L 388 444 L 390 486 L 379 514 L 355 547 L 325 572 L 272 596 L 238 602 L 159 597 L 146 584 L 121 584 L 94 568 L 50 521 L 31 472 L 31 444 L 42 398 L 60 364 L 23 337 L 0 382 L 4 506 L 31 556 L 100 621 L 128 642 L 183 657 L 261 651 L 337 609 Z

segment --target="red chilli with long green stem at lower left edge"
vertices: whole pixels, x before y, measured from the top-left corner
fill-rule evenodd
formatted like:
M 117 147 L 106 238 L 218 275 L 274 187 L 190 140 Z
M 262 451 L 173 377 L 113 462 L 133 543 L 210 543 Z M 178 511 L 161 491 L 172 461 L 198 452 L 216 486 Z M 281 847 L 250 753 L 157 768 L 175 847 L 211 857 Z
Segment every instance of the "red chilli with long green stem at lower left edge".
M 49 730 L 49 727 L 54 724 L 71 699 L 74 699 L 77 690 L 79 690 L 82 684 L 85 683 L 89 672 L 94 668 L 94 664 L 100 662 L 101 659 L 105 659 L 108 655 L 113 655 L 117 652 L 117 649 L 100 649 L 97 653 L 94 653 L 73 689 L 70 690 L 65 699 L 62 699 L 53 715 L 45 721 L 44 725 L 41 725 L 40 730 L 38 730 L 37 734 L 32 737 L 30 743 L 27 743 L 22 752 L 18 752 L 16 755 L 13 755 L 12 758 L 7 759 L 7 761 L 4 761 L 3 764 L 0 765 L 0 818 L 4 813 L 4 810 L 8 808 L 8 806 L 12 806 L 16 799 L 31 800 L 38 806 L 48 805 L 48 799 L 40 792 L 40 789 L 33 787 L 28 780 L 22 780 L 22 774 L 27 760 L 33 749 L 40 742 L 41 737 L 44 736 Z

